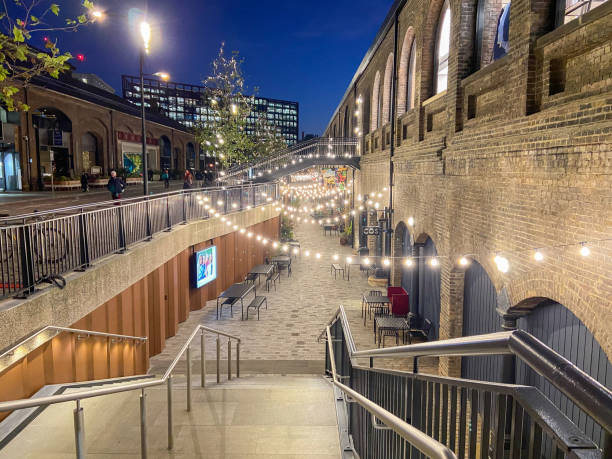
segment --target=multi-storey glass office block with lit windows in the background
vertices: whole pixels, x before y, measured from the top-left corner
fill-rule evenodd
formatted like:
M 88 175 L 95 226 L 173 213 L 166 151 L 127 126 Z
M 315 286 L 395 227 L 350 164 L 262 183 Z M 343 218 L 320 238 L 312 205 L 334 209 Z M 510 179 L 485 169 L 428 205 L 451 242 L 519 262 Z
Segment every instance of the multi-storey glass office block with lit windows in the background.
M 123 75 L 121 80 L 123 97 L 140 106 L 140 78 Z M 214 117 L 214 112 L 208 106 L 205 86 L 145 78 L 144 93 L 147 109 L 158 111 L 187 127 L 194 127 L 199 122 L 206 123 Z M 293 145 L 298 141 L 298 108 L 297 102 L 255 97 L 254 111 L 248 118 L 247 134 L 254 132 L 257 117 L 263 114 L 280 130 L 287 145 Z

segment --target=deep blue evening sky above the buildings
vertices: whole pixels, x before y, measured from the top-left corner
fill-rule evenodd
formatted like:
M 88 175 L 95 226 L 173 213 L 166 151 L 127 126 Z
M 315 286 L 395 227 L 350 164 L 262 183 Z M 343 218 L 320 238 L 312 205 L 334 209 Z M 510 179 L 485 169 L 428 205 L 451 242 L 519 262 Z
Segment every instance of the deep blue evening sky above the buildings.
M 70 4 L 68 0 L 64 5 Z M 300 104 L 300 131 L 321 134 L 392 0 L 149 0 L 154 24 L 149 73 L 199 84 L 222 41 L 245 59 L 249 88 Z M 82 53 L 77 71 L 96 73 L 121 95 L 121 75 L 138 71 L 138 42 L 130 8 L 142 1 L 99 0 L 104 22 L 61 34 L 60 49 Z M 300 133 L 301 135 L 301 133 Z

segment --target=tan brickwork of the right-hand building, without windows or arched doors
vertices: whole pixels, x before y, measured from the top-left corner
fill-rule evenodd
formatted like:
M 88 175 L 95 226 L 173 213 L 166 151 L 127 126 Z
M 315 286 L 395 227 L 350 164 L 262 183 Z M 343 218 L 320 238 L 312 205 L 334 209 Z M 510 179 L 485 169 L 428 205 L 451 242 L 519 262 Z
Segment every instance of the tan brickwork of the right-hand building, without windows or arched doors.
M 468 254 L 508 306 L 534 297 L 562 303 L 610 358 L 612 329 L 605 324 L 612 322 L 612 243 L 593 246 L 590 257 L 566 245 L 612 239 L 612 2 L 556 30 L 553 3 L 513 1 L 510 52 L 487 65 L 501 5 L 487 2 L 481 68 L 474 72 L 477 3 L 452 1 L 448 90 L 432 97 L 442 1 L 408 1 L 399 13 L 397 49 L 391 27 L 353 92 L 371 99 L 391 53 L 401 53 L 398 65 L 407 65 L 402 46 L 414 36 L 415 108 L 400 110 L 394 139 L 394 226 L 413 217 L 412 238 L 431 237 L 444 257 L 440 337 L 462 334 L 457 259 Z M 399 68 L 398 91 L 405 82 L 406 69 Z M 398 94 L 398 101 L 405 97 Z M 354 103 L 345 100 L 339 108 Z M 365 136 L 369 148 L 356 193 L 388 186 L 387 130 Z M 401 248 L 397 235 L 393 246 Z M 551 246 L 565 247 L 545 250 L 542 262 L 533 259 L 534 249 Z M 508 273 L 496 269 L 496 253 L 509 260 Z M 394 282 L 400 274 L 395 263 Z M 443 374 L 459 374 L 459 365 L 440 360 Z

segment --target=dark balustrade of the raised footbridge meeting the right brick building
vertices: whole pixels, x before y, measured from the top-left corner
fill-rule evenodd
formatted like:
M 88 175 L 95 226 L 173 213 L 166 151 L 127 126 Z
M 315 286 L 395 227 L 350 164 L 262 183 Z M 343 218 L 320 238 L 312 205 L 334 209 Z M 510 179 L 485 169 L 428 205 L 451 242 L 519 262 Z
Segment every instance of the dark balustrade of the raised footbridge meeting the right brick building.
M 333 164 L 332 158 L 348 159 L 360 156 L 358 146 L 359 139 L 353 137 L 312 139 L 284 148 L 265 159 L 231 167 L 219 177 L 219 181 L 265 178 L 274 171 L 291 166 L 292 163 L 306 164 L 308 160 L 329 158 Z

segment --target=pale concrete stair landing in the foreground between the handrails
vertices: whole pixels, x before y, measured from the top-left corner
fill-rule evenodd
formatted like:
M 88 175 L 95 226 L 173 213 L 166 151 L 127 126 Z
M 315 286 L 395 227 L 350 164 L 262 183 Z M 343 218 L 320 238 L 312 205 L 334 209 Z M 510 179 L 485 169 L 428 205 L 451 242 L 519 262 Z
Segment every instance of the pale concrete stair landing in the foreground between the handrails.
M 146 391 L 149 457 L 340 458 L 334 394 L 321 376 L 245 376 L 202 389 L 173 383 L 174 449 L 167 449 L 166 387 Z M 73 458 L 74 403 L 40 414 L 0 458 Z M 139 392 L 84 400 L 87 457 L 139 457 Z

